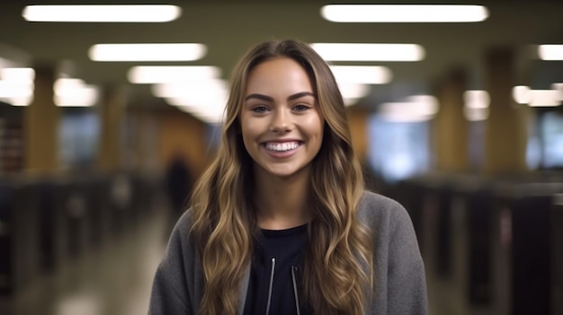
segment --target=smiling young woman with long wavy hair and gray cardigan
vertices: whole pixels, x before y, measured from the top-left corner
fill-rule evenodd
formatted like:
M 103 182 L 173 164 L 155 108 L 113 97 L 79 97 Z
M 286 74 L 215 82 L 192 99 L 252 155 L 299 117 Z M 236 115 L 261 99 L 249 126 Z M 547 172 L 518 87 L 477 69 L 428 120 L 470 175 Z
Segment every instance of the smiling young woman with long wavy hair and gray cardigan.
M 268 41 L 231 83 L 219 153 L 174 228 L 149 313 L 425 314 L 412 223 L 364 191 L 326 62 Z

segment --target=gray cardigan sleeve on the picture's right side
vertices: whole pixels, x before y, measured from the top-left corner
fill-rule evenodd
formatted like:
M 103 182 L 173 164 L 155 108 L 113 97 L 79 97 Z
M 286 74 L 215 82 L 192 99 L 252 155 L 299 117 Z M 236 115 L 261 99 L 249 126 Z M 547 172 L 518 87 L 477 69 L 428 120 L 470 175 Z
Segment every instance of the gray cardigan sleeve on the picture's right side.
M 425 315 L 426 277 L 410 216 L 397 204 L 390 218 L 388 314 Z

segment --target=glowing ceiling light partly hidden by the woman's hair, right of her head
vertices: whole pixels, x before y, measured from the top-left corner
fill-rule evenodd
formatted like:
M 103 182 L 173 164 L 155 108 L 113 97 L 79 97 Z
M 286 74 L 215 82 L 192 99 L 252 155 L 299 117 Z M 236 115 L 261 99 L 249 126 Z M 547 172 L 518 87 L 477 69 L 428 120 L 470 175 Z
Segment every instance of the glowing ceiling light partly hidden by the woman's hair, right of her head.
M 419 61 L 424 48 L 416 44 L 316 43 L 311 47 L 328 61 Z

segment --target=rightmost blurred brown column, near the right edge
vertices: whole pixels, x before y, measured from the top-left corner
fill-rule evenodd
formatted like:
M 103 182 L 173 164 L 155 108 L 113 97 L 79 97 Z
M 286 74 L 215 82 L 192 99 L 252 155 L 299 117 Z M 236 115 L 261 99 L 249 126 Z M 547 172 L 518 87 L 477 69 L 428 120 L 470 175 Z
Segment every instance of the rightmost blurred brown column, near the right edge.
M 512 98 L 516 75 L 513 49 L 489 49 L 485 66 L 490 107 L 486 122 L 484 171 L 487 174 L 527 171 L 525 148 L 529 110 L 515 104 Z

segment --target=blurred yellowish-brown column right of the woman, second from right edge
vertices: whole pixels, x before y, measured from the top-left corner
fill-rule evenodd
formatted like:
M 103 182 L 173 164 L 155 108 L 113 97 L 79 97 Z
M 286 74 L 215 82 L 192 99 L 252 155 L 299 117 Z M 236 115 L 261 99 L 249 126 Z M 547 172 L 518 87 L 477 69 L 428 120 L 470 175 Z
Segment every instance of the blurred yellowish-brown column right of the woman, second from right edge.
M 469 123 L 463 114 L 467 78 L 463 70 L 451 70 L 438 86 L 440 109 L 433 123 L 438 171 L 469 170 Z

